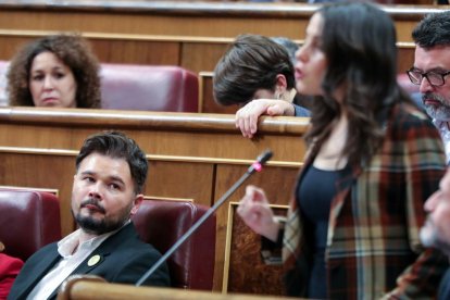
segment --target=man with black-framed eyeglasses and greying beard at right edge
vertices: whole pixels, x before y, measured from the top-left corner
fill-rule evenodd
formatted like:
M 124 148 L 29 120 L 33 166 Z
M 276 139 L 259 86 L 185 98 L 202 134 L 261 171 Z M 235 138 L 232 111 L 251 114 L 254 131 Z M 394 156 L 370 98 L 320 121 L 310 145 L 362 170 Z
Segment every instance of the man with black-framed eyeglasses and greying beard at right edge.
M 420 85 L 422 102 L 439 129 L 450 161 L 450 11 L 426 15 L 414 28 L 414 65 L 407 73 Z

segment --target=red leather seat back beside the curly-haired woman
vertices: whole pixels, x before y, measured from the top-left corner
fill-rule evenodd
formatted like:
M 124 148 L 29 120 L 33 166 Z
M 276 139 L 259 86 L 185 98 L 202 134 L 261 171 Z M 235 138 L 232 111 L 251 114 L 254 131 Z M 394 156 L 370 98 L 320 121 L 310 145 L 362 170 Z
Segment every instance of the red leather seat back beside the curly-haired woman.
M 198 76 L 179 66 L 101 64 L 102 108 L 198 112 Z

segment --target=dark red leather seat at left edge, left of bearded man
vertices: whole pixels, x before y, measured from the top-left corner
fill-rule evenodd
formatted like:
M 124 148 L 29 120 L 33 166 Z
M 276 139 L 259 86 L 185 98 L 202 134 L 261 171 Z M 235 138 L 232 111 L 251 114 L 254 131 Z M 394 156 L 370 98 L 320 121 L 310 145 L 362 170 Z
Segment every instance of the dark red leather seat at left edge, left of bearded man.
M 23 261 L 61 239 L 60 201 L 53 193 L 0 189 L 0 240 Z

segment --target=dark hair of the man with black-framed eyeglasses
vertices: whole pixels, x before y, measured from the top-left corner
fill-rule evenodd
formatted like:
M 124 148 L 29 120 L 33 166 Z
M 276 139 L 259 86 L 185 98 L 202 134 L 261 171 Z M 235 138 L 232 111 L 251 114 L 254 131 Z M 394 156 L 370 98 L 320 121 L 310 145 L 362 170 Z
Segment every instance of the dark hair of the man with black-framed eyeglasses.
M 450 46 L 450 11 L 427 14 L 412 32 L 416 45 L 428 49 Z

